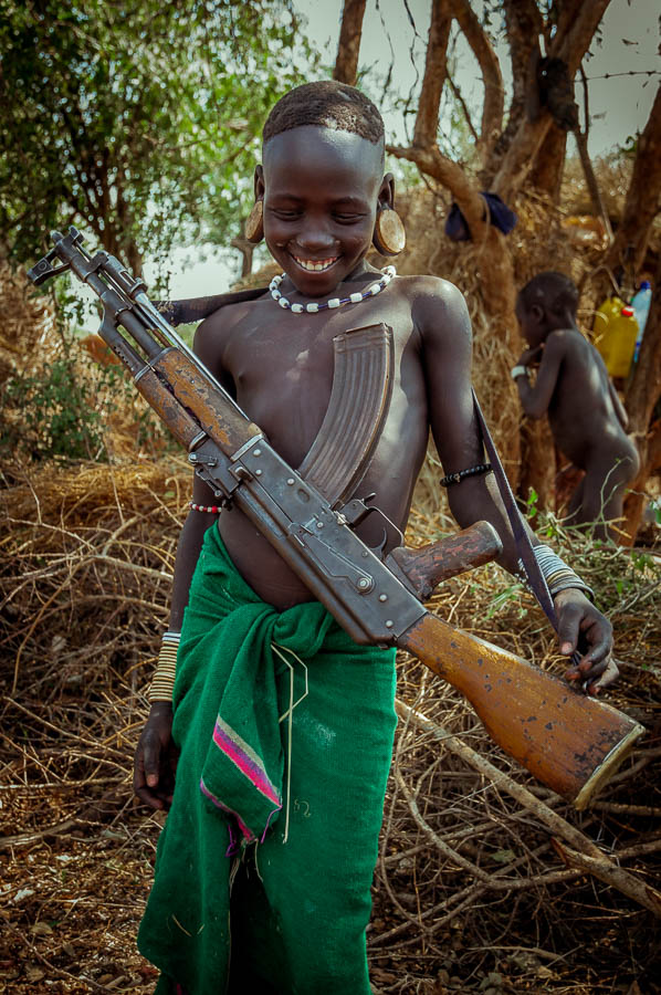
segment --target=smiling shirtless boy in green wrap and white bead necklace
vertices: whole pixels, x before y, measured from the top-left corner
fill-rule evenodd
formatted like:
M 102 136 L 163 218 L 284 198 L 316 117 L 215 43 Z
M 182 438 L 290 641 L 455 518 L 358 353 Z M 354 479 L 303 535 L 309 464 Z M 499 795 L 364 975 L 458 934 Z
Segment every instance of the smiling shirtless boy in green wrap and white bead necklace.
M 202 322 L 197 354 L 297 467 L 328 406 L 334 336 L 388 324 L 392 399 L 359 495 L 375 492 L 403 530 L 431 428 L 459 478 L 457 521 L 490 521 L 500 563 L 516 572 L 484 465 L 463 297 L 447 281 L 389 279 L 366 262 L 394 206 L 378 111 L 353 87 L 308 84 L 275 105 L 263 139 L 254 237 L 263 223 L 283 277 Z M 204 511 L 213 495 L 197 478 L 193 503 L 165 641 L 171 671 L 181 633 L 174 719 L 157 677 L 136 754 L 139 797 L 156 808 L 171 799 L 140 950 L 162 972 L 159 992 L 368 995 L 395 653 L 356 646 L 241 512 Z M 359 531 L 380 541 L 369 519 Z M 552 587 L 560 649 L 570 653 L 580 630 L 587 652 L 568 675 L 595 688 L 613 675 L 610 625 L 571 577 Z

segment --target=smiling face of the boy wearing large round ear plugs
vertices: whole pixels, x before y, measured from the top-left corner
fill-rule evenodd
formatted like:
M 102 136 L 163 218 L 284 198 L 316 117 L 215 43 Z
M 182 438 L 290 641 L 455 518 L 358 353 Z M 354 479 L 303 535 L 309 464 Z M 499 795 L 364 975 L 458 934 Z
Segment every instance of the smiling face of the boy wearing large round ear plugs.
M 379 198 L 391 201 L 380 146 L 349 132 L 292 128 L 269 140 L 262 169 L 255 192 L 269 251 L 304 296 L 332 295 L 370 247 Z

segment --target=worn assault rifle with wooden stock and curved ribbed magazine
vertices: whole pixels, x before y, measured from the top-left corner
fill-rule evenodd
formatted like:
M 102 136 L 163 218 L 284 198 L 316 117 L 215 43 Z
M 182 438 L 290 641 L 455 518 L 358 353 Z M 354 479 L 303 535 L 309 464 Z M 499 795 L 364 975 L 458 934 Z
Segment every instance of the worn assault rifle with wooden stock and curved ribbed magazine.
M 180 339 L 140 280 L 107 252 L 90 255 L 73 227 L 66 235 L 55 231 L 51 237 L 54 248 L 30 277 L 40 284 L 71 269 L 98 295 L 99 335 L 187 448 L 195 472 L 219 504 L 233 502 L 250 519 L 356 642 L 413 653 L 466 696 L 507 754 L 584 808 L 642 726 L 520 657 L 453 628 L 420 600 L 441 579 L 499 554 L 492 526 L 476 523 L 421 551 L 399 546 L 384 559 L 354 531 L 366 515 L 380 514 L 366 501 L 345 499 L 363 475 L 387 410 L 390 329 L 376 325 L 338 336 L 333 395 L 337 388 L 343 397 L 332 395 L 323 431 L 294 470 Z M 53 266 L 55 259 L 62 264 Z M 347 355 L 358 358 L 347 360 Z M 338 356 L 345 359 L 338 363 Z M 374 388 L 361 395 L 367 430 L 355 430 L 360 411 L 355 402 L 352 407 L 353 377 Z

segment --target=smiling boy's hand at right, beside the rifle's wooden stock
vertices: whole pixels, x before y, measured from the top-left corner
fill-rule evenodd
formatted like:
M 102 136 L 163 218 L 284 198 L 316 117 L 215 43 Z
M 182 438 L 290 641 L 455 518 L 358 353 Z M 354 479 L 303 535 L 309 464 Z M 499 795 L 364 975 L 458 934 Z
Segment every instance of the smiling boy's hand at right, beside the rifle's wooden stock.
M 580 681 L 588 694 L 597 694 L 619 674 L 612 659 L 612 626 L 577 588 L 560 590 L 554 606 L 560 652 L 570 657 L 578 649 L 581 653 L 578 664 L 571 666 L 565 677 L 568 681 Z

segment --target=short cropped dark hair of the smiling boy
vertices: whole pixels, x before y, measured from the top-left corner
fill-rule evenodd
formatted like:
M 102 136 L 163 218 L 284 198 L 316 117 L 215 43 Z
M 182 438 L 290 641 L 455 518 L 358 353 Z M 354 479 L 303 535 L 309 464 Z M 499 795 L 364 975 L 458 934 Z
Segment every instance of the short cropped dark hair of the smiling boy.
M 306 125 L 350 132 L 373 145 L 384 140 L 384 118 L 376 105 L 355 86 L 335 80 L 304 83 L 285 93 L 266 118 L 263 144 L 282 132 Z

